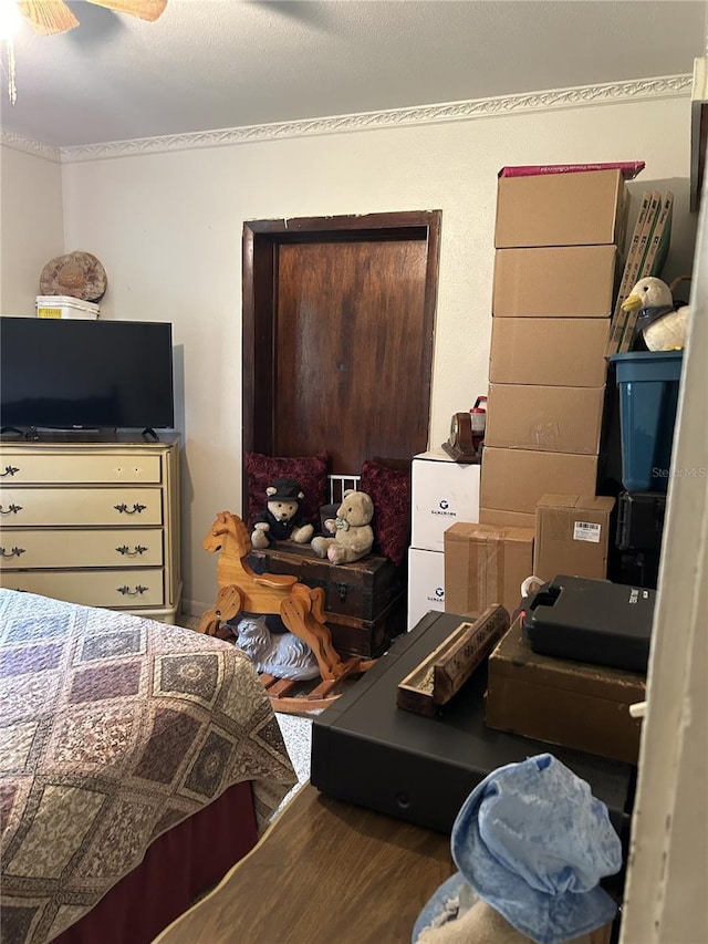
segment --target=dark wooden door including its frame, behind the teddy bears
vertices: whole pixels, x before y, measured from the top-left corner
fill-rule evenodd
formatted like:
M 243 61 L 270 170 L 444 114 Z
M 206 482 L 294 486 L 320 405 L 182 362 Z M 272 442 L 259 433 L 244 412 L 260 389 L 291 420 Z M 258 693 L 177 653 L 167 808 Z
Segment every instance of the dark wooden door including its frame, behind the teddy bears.
M 244 225 L 244 450 L 354 474 L 427 448 L 440 216 Z

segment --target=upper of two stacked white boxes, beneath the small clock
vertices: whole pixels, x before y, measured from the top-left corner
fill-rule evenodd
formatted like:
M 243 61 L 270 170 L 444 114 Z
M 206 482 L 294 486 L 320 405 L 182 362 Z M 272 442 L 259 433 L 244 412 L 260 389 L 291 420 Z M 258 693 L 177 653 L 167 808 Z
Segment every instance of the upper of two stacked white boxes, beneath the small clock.
M 414 456 L 410 476 L 413 547 L 442 551 L 442 536 L 450 525 L 478 521 L 479 481 L 479 464 L 456 463 L 442 449 Z

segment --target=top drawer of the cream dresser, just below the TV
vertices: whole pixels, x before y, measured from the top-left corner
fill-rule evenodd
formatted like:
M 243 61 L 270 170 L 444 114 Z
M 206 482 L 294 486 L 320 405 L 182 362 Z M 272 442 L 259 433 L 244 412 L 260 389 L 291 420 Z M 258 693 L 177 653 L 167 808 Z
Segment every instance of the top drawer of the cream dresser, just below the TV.
M 29 454 L 6 448 L 0 453 L 0 478 L 6 485 L 158 484 L 162 459 L 135 453 L 86 455 L 81 449 L 67 454 L 48 449 Z

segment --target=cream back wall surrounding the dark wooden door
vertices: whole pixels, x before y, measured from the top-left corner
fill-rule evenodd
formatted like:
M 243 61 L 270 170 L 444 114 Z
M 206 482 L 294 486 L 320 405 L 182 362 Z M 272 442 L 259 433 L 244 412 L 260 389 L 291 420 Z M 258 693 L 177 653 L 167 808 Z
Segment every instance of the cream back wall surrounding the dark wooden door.
M 117 151 L 116 151 L 117 153 Z M 102 317 L 169 320 L 184 434 L 186 606 L 216 593 L 201 538 L 241 508 L 241 232 L 244 220 L 441 209 L 430 443 L 486 392 L 497 173 L 504 164 L 644 159 L 633 194 L 676 193 L 665 276 L 689 272 L 689 98 L 583 104 L 64 164 L 66 251 L 108 276 Z M 632 222 L 632 220 L 631 220 Z M 351 421 L 351 418 L 350 418 Z

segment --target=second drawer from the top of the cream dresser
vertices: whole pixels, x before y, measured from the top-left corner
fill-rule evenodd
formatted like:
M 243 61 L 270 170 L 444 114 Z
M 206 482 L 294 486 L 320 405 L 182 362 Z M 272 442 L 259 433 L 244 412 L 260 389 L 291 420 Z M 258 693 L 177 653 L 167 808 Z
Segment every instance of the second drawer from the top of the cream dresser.
M 0 488 L 0 525 L 162 525 L 159 488 Z

